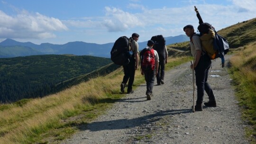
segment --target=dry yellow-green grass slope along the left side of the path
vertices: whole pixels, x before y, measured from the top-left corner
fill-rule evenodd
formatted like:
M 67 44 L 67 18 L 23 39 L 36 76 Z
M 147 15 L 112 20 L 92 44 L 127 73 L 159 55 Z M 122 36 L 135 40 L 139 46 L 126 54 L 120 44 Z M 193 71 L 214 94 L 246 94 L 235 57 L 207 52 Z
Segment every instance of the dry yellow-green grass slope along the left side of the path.
M 189 57 L 169 59 L 167 68 Z M 122 68 L 41 99 L 0 105 L 0 144 L 57 143 L 101 115 L 121 94 Z M 136 71 L 134 88 L 144 82 Z M 48 140 L 49 139 L 49 140 Z

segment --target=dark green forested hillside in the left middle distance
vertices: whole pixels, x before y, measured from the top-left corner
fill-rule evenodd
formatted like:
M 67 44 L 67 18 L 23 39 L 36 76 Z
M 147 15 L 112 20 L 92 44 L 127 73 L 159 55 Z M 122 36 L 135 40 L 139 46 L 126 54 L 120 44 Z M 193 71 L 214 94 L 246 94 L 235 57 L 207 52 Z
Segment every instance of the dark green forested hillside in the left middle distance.
M 62 86 L 56 84 L 90 73 L 109 63 L 112 63 L 109 58 L 73 55 L 2 58 L 0 102 L 43 97 L 63 90 L 74 83 L 65 82 Z

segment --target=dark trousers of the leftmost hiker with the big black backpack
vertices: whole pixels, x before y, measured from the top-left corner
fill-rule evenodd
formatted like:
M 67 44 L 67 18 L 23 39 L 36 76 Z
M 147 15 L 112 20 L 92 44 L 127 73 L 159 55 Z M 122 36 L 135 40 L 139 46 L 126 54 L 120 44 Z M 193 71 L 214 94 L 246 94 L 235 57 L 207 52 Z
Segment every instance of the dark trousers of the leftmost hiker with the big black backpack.
M 124 68 L 124 78 L 122 83 L 127 83 L 128 82 L 128 88 L 127 91 L 132 90 L 132 84 L 134 81 L 134 76 L 135 76 L 135 60 L 131 58 L 130 63 L 127 65 L 123 65 Z M 128 81 L 129 80 L 129 81 Z

